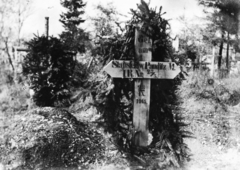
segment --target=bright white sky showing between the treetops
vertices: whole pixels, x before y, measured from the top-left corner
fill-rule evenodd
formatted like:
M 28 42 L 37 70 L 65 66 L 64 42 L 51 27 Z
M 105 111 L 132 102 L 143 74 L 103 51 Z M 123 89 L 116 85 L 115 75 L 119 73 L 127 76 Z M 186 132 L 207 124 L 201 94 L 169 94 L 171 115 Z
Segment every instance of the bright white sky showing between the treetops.
M 149 2 L 149 0 L 145 1 Z M 94 6 L 99 3 L 104 5 L 112 2 L 120 13 L 128 15 L 130 9 L 136 9 L 136 4 L 140 3 L 140 0 L 85 0 L 85 2 L 87 2 L 87 6 L 84 19 L 88 20 L 90 16 L 96 15 Z M 162 11 L 166 12 L 164 18 L 170 20 L 172 33 L 175 35 L 182 28 L 178 21 L 180 16 L 184 15 L 189 22 L 194 22 L 195 17 L 203 15 L 197 0 L 151 0 L 150 7 L 159 8 L 160 6 L 162 6 Z M 21 36 L 32 37 L 33 34 L 44 34 L 45 17 L 49 17 L 49 35 L 57 36 L 63 31 L 59 19 L 64 8 L 61 6 L 60 0 L 34 0 L 32 11 L 32 14 L 26 19 Z M 88 22 L 83 25 L 84 29 L 88 30 L 89 27 Z

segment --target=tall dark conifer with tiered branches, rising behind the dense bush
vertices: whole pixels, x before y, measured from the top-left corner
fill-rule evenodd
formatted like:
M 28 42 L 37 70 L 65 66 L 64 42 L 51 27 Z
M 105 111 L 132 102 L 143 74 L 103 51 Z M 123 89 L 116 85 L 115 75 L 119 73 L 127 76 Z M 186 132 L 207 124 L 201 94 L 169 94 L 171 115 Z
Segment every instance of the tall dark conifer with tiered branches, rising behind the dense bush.
M 61 4 L 67 11 L 60 15 L 60 22 L 65 29 L 60 38 L 70 51 L 83 53 L 88 35 L 79 28 L 79 25 L 84 22 L 81 16 L 84 14 L 86 4 L 82 0 L 62 0 Z

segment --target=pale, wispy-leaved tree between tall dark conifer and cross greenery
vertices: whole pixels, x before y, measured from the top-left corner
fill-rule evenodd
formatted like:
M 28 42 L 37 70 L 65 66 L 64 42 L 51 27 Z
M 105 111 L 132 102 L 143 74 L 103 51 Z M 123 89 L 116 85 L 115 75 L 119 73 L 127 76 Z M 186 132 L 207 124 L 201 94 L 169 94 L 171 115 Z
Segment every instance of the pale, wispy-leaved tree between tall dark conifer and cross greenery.
M 90 16 L 93 28 L 91 35 L 94 39 L 94 47 L 91 49 L 91 53 L 94 56 L 94 61 L 99 65 L 98 61 L 103 61 L 102 56 L 107 55 L 107 51 L 103 49 L 105 49 L 105 46 L 110 45 L 106 41 L 111 42 L 112 38 L 120 38 L 123 29 L 121 28 L 122 23 L 119 21 L 121 14 L 113 3 L 107 3 L 107 5 L 98 4 L 95 9 L 96 14 Z M 105 65 L 106 63 L 103 62 L 101 64 Z M 95 67 L 95 69 L 99 68 Z

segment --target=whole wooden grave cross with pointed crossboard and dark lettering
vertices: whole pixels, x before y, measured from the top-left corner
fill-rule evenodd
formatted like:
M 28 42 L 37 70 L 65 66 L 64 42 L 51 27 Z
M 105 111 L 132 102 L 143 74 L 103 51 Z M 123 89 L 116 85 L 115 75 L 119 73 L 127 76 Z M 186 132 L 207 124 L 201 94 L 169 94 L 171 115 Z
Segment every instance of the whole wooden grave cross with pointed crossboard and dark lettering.
M 138 146 L 148 145 L 148 120 L 150 109 L 151 79 L 173 79 L 180 73 L 174 62 L 152 62 L 152 41 L 140 30 L 135 30 L 135 53 L 139 62 L 112 60 L 105 67 L 113 78 L 134 79 L 133 126 L 134 142 Z

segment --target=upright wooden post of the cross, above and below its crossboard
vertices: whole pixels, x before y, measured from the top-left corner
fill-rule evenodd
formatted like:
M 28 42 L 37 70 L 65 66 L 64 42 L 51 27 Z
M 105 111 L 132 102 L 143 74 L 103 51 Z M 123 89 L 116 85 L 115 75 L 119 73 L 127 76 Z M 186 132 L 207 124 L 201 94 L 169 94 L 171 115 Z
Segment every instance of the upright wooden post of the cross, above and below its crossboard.
M 140 61 L 152 60 L 152 42 L 141 30 L 135 30 L 135 53 Z M 133 126 L 135 145 L 148 145 L 148 121 L 150 110 L 150 79 L 137 79 L 134 82 Z

